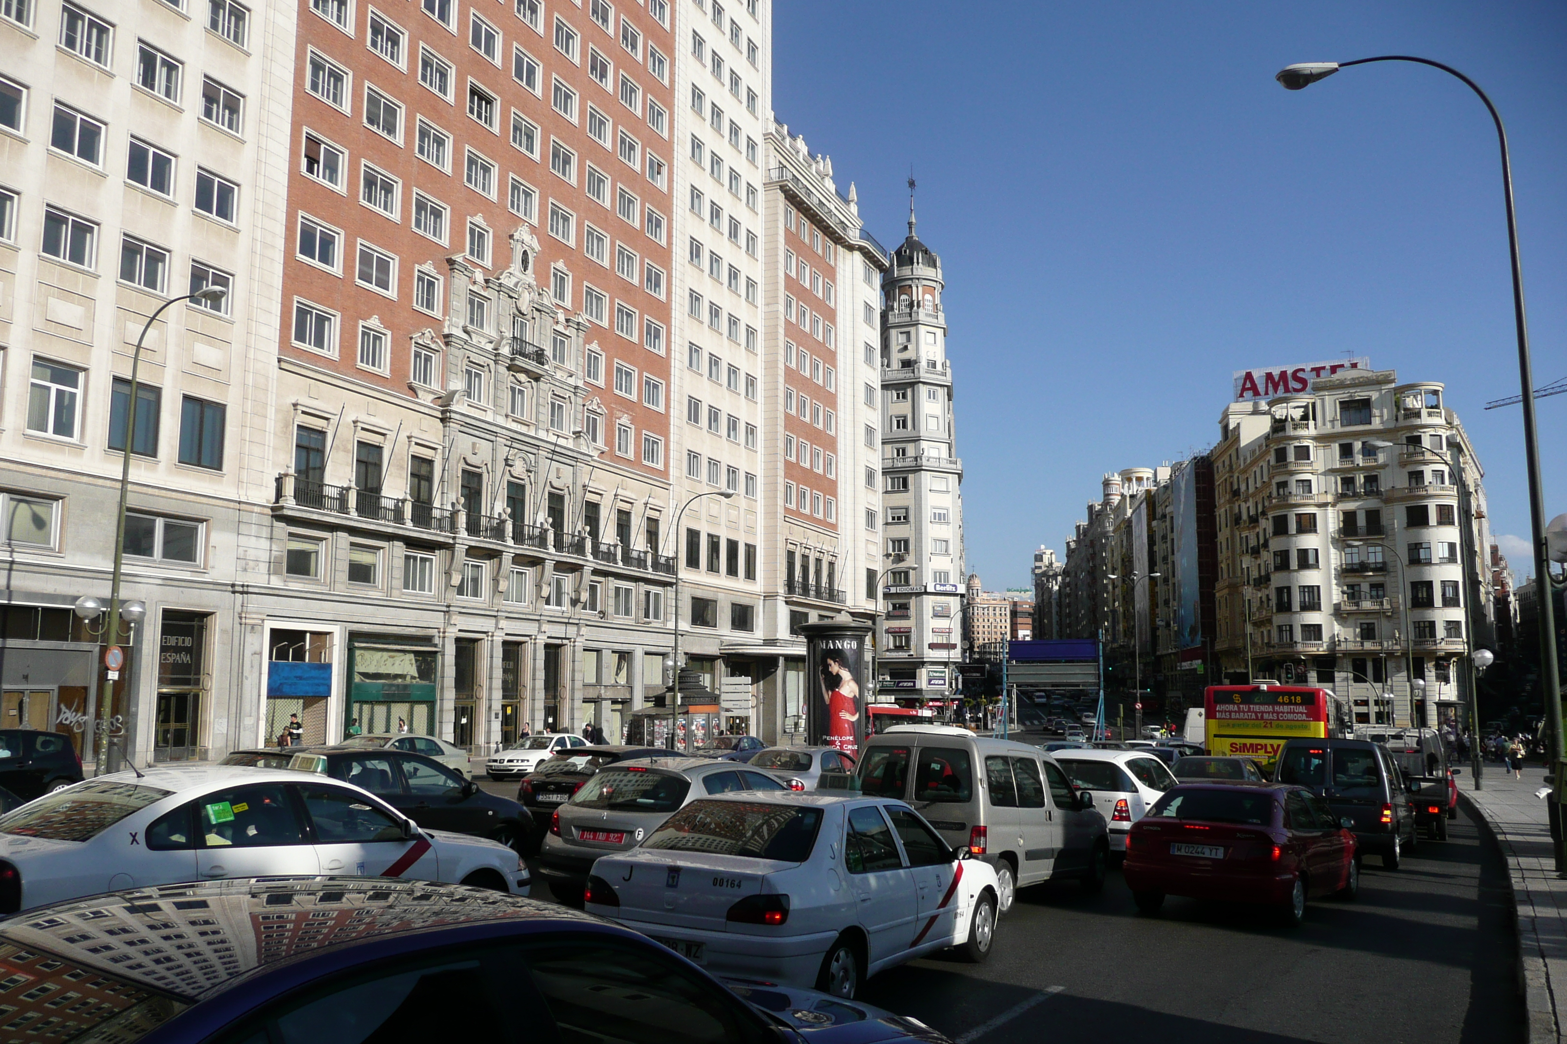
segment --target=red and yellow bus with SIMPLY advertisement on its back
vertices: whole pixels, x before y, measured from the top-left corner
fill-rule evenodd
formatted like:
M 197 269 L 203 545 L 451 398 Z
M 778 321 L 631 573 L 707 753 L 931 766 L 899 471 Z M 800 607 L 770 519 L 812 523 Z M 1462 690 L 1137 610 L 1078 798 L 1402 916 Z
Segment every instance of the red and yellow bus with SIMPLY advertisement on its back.
M 1348 707 L 1332 689 L 1315 686 L 1210 686 L 1203 695 L 1210 754 L 1255 758 L 1269 772 L 1288 739 L 1348 733 Z

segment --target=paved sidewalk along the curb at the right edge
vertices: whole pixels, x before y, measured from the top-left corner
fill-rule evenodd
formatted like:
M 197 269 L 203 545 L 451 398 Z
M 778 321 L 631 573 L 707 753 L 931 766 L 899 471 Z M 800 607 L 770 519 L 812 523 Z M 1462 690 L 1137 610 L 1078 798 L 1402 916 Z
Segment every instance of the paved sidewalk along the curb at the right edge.
M 1558 1044 L 1567 1027 L 1567 880 L 1551 866 L 1545 801 L 1534 797 L 1545 786 L 1545 767 L 1525 765 L 1523 779 L 1514 779 L 1487 762 L 1479 792 L 1468 762 L 1462 769 L 1459 800 L 1481 814 L 1507 861 L 1529 1044 Z

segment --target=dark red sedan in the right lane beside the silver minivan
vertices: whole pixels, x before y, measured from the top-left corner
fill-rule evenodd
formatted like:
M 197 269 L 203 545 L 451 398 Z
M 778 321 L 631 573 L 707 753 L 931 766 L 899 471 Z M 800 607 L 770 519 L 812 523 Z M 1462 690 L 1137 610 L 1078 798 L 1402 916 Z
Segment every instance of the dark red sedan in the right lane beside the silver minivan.
M 1182 783 L 1127 836 L 1127 884 L 1145 914 L 1166 895 L 1271 906 L 1297 925 L 1305 900 L 1360 891 L 1355 836 L 1327 805 L 1279 783 Z

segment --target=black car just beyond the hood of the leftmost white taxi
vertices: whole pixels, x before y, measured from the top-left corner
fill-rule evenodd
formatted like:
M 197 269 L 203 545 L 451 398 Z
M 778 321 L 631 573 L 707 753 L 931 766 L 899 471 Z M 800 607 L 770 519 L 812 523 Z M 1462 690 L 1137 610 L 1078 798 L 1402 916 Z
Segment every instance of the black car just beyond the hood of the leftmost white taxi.
M 288 751 L 293 754 L 290 769 L 364 787 L 429 830 L 489 837 L 519 855 L 536 833 L 520 805 L 480 790 L 480 784 L 425 754 L 365 747 L 291 747 Z M 223 764 L 254 764 L 246 758 L 251 753 L 235 751 Z

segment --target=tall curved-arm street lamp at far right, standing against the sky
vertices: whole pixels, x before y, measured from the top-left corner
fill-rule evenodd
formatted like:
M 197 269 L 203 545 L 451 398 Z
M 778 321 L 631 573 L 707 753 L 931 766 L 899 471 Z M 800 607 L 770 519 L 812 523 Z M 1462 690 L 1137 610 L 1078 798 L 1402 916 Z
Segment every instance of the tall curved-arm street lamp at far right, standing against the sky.
M 1507 208 L 1507 255 L 1512 263 L 1512 324 L 1518 340 L 1518 390 L 1523 393 L 1523 459 L 1529 479 L 1529 535 L 1534 549 L 1534 574 L 1540 584 L 1543 598 L 1540 603 L 1540 697 L 1545 703 L 1545 718 L 1551 729 L 1551 779 L 1556 792 L 1551 797 L 1551 850 L 1556 872 L 1567 870 L 1567 850 L 1562 848 L 1561 800 L 1567 794 L 1567 764 L 1564 764 L 1562 747 L 1562 703 L 1561 675 L 1556 667 L 1556 614 L 1550 598 L 1550 554 L 1545 535 L 1545 487 L 1540 482 L 1540 445 L 1534 427 L 1534 373 L 1529 360 L 1529 327 L 1523 313 L 1523 261 L 1518 257 L 1518 218 L 1512 205 L 1512 161 L 1507 158 L 1507 130 L 1501 125 L 1501 113 L 1490 103 L 1490 99 L 1479 85 L 1462 72 L 1440 61 L 1429 58 L 1413 58 L 1410 55 L 1379 55 L 1376 58 L 1359 58 L 1355 61 L 1313 61 L 1288 66 L 1279 72 L 1276 80 L 1290 91 L 1316 83 L 1349 66 L 1363 66 L 1373 61 L 1410 61 L 1420 66 L 1440 69 L 1462 80 L 1490 113 L 1496 125 L 1496 144 L 1501 150 L 1501 194 Z

